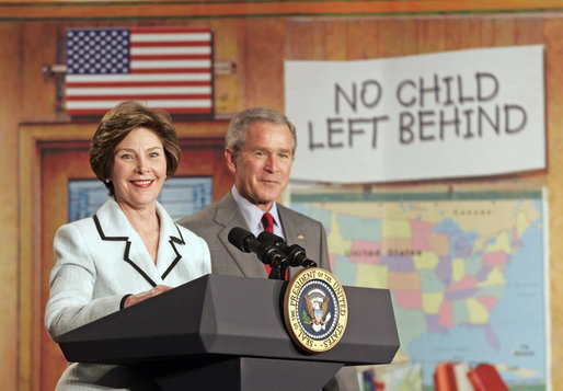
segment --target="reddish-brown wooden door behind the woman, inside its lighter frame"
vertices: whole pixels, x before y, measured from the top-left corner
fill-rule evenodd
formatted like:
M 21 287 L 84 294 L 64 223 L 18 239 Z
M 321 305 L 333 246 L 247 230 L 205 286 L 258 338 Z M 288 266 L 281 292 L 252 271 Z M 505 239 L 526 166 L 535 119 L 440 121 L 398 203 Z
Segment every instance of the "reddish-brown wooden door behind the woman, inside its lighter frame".
M 222 139 L 181 140 L 182 160 L 177 176 L 207 176 L 212 179 L 212 199 L 217 200 L 232 186 L 222 157 Z M 45 142 L 41 146 L 41 265 L 37 271 L 37 294 L 41 317 L 35 330 L 41 330 L 38 373 L 39 390 L 53 390 L 65 370 L 67 361 L 57 344 L 43 325 L 49 289 L 49 273 L 54 264 L 53 238 L 56 230 L 68 221 L 69 180 L 95 179 L 88 157 L 88 142 Z M 36 388 L 35 387 L 35 388 Z

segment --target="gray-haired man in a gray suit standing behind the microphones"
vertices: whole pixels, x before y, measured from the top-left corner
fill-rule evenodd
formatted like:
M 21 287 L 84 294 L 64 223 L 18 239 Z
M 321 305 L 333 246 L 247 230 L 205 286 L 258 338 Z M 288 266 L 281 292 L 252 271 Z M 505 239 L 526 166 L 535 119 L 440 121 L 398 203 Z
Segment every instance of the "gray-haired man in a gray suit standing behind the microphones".
M 241 227 L 254 235 L 268 226 L 287 244 L 299 244 L 319 267 L 330 268 L 323 226 L 276 203 L 287 186 L 296 149 L 295 126 L 275 110 L 254 107 L 239 113 L 225 137 L 227 166 L 234 186 L 217 203 L 179 221 L 204 238 L 211 253 L 211 273 L 266 278 L 268 271 L 255 254 L 229 243 L 229 231 Z M 289 274 L 299 268 L 290 267 Z M 359 390 L 355 368 L 344 368 L 324 390 Z

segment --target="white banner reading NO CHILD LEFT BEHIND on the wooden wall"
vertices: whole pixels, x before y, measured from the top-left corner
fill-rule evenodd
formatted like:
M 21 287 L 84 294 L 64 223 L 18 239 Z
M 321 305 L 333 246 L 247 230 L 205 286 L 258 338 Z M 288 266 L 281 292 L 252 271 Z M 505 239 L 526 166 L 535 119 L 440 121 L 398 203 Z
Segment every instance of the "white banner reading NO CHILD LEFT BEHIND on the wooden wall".
M 286 61 L 292 180 L 369 183 L 545 168 L 543 46 Z

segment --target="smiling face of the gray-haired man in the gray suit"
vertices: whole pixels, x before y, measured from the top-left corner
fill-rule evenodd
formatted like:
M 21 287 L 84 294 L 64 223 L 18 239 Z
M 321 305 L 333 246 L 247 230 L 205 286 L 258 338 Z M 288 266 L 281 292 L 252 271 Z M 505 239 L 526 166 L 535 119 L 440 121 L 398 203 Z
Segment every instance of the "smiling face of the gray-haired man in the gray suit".
M 227 148 L 227 165 L 234 174 L 239 193 L 267 211 L 289 182 L 294 162 L 294 140 L 287 125 L 251 124 L 235 158 Z

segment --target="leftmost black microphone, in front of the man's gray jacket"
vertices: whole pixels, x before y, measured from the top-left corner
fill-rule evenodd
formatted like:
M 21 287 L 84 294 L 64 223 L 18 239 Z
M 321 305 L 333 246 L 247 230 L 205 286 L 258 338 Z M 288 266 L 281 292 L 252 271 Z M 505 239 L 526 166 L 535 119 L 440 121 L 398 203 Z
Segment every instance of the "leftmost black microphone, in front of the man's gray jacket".
M 274 267 L 287 267 L 289 260 L 273 243 L 262 243 L 252 232 L 234 227 L 229 231 L 229 242 L 244 253 L 255 253 L 262 263 Z

